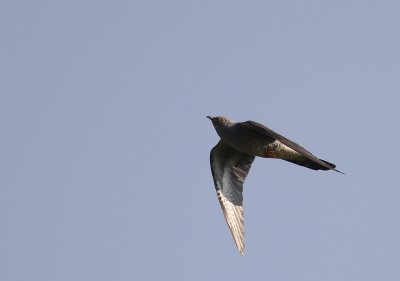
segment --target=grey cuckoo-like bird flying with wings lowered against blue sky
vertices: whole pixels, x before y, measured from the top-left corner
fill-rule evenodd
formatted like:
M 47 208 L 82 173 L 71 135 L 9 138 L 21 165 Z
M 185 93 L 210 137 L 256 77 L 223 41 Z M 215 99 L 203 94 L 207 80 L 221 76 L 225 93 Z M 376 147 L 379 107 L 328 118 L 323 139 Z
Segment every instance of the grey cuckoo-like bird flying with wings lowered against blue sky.
M 234 122 L 207 116 L 220 137 L 210 152 L 217 197 L 233 240 L 244 254 L 243 183 L 256 156 L 282 159 L 312 170 L 336 170 L 336 165 L 314 156 L 297 143 L 255 121 Z

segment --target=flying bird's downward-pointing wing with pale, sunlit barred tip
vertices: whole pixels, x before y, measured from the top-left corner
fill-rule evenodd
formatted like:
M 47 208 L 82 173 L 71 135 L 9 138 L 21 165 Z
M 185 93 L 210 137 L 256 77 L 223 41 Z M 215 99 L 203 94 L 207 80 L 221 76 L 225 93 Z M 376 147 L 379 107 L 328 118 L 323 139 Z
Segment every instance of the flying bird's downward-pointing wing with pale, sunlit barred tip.
M 241 153 L 219 141 L 211 150 L 210 164 L 219 203 L 236 246 L 243 255 L 243 182 L 254 156 Z

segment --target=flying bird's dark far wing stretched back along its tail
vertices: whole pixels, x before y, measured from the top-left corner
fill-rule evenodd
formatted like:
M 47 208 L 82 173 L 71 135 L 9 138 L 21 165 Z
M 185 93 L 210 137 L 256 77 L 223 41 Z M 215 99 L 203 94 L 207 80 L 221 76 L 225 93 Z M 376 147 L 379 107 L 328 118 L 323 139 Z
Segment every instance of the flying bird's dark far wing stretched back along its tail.
M 321 165 L 322 167 L 327 168 L 328 170 L 335 169 L 335 167 L 336 167 L 332 163 L 323 161 L 323 160 L 315 157 L 311 152 L 306 150 L 304 147 L 302 147 L 299 144 L 297 144 L 297 143 L 285 138 L 284 136 L 278 134 L 277 132 L 274 132 L 270 128 L 267 128 L 266 126 L 264 126 L 264 125 L 262 125 L 260 123 L 257 123 L 255 121 L 246 121 L 246 122 L 241 123 L 241 125 L 243 127 L 245 127 L 245 128 L 257 131 L 258 133 L 264 134 L 264 135 L 266 135 L 268 137 L 271 137 L 271 138 L 274 138 L 275 140 L 280 141 L 281 143 L 283 143 L 284 145 L 290 147 L 294 151 L 300 153 L 301 155 L 303 155 L 307 159 L 317 163 L 318 165 Z

